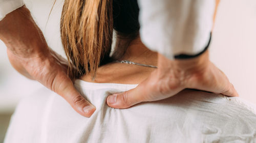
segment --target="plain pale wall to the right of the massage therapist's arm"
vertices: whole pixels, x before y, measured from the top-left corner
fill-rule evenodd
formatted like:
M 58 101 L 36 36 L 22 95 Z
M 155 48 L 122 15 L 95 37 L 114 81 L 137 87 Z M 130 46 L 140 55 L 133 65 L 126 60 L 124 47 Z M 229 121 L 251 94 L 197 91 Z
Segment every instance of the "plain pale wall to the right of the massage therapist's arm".
M 234 84 L 240 97 L 256 104 L 256 1 L 222 0 L 210 59 Z

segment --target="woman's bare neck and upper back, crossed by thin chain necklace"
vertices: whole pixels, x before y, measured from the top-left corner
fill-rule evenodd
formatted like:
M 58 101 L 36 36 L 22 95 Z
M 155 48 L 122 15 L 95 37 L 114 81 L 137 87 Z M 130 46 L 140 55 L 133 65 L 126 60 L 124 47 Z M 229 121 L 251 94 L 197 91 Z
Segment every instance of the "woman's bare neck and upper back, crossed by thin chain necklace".
M 118 60 L 157 66 L 157 53 L 147 49 L 137 38 L 130 43 L 125 54 Z M 155 68 L 113 62 L 100 66 L 94 80 L 90 74 L 82 76 L 81 79 L 98 83 L 138 84 L 150 76 L 154 70 Z

